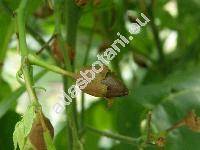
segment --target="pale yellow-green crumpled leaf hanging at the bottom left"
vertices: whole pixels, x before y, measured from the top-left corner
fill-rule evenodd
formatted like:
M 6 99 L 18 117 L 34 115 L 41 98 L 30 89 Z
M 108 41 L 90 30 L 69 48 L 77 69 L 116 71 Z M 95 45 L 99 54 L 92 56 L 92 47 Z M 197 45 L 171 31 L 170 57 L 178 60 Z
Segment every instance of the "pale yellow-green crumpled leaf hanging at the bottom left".
M 16 124 L 15 131 L 13 133 L 13 142 L 15 149 L 17 149 L 17 145 L 20 149 L 24 148 L 27 142 L 27 136 L 31 131 L 32 124 L 36 116 L 35 109 L 35 105 L 32 104 L 31 106 L 29 106 L 22 120 Z

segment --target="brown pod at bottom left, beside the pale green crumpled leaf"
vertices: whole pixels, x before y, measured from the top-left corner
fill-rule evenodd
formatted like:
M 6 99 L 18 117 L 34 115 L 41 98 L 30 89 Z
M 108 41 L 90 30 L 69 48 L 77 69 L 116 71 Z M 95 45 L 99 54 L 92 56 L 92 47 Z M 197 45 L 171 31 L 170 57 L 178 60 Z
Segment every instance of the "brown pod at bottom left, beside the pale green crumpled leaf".
M 51 137 L 53 138 L 54 129 L 53 129 L 51 122 L 45 116 L 43 116 L 43 120 L 44 120 L 45 126 L 47 127 L 47 129 L 50 132 Z M 29 134 L 29 140 L 30 140 L 31 144 L 37 150 L 47 150 L 43 133 L 44 133 L 44 128 L 42 127 L 40 117 L 37 114 L 36 118 L 33 122 L 31 132 Z

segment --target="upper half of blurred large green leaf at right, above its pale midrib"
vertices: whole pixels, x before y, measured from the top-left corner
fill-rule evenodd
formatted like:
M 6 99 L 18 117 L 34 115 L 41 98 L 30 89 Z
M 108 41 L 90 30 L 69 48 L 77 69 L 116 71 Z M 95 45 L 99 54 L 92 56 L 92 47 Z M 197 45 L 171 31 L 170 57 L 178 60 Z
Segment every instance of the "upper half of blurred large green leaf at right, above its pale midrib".
M 138 103 L 152 109 L 161 102 L 176 98 L 182 93 L 199 93 L 200 65 L 172 73 L 164 81 L 139 86 L 132 92 Z M 193 96 L 193 95 L 191 95 Z

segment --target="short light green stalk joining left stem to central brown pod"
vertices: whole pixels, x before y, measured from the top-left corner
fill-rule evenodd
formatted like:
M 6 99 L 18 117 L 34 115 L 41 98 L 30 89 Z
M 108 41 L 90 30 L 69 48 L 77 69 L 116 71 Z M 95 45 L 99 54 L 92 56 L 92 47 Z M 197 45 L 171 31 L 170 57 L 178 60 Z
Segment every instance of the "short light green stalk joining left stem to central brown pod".
M 50 64 L 44 62 L 43 60 L 37 58 L 34 55 L 29 54 L 28 55 L 28 60 L 29 60 L 31 65 L 37 65 L 37 66 L 46 68 L 46 69 L 48 69 L 50 71 L 53 71 L 53 72 L 56 72 L 56 73 L 59 73 L 59 74 L 65 75 L 65 76 L 69 76 L 69 77 L 72 77 L 72 78 L 75 77 L 74 73 L 69 72 L 69 71 L 65 71 L 64 69 L 62 69 L 60 67 L 57 67 L 57 66 L 54 66 L 54 65 L 50 65 Z

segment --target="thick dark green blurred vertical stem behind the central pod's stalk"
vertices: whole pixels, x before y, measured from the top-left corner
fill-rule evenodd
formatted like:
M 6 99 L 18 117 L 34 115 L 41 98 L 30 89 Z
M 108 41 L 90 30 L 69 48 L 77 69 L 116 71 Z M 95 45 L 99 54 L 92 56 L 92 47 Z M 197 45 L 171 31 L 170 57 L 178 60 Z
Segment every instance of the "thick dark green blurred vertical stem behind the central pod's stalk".
M 65 55 L 70 60 L 70 63 L 65 64 L 70 71 L 75 71 L 75 54 L 76 54 L 76 39 L 77 39 L 77 26 L 80 18 L 80 8 L 75 4 L 74 0 L 65 0 L 66 7 L 66 44 L 67 44 L 67 53 Z M 72 80 L 68 79 L 65 81 L 64 87 L 68 88 L 68 85 L 72 84 Z M 77 104 L 76 99 L 73 99 L 72 104 L 67 108 L 68 115 L 68 125 L 71 128 L 72 133 L 72 149 L 79 150 L 82 149 L 82 144 L 79 141 L 78 136 L 78 121 L 77 121 Z

